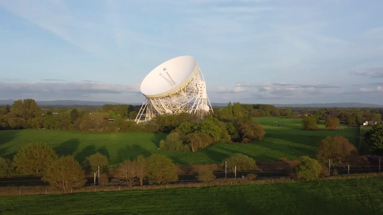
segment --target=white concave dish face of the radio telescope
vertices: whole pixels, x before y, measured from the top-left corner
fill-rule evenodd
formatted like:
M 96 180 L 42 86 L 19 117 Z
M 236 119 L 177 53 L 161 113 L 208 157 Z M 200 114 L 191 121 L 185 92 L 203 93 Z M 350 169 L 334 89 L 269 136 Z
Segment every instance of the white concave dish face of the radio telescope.
M 197 61 L 192 56 L 180 56 L 170 59 L 154 68 L 144 78 L 141 83 L 141 93 L 146 98 L 166 96 L 177 91 L 190 81 L 197 70 Z

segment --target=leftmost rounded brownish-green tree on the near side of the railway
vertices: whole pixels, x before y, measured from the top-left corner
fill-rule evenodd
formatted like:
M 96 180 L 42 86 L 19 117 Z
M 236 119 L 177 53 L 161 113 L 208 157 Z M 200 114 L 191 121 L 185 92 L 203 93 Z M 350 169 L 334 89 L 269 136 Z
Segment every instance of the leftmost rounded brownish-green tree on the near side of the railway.
M 42 179 L 49 182 L 51 187 L 63 189 L 64 192 L 70 188 L 82 187 L 86 182 L 84 171 L 72 156 L 62 156 L 55 160 Z

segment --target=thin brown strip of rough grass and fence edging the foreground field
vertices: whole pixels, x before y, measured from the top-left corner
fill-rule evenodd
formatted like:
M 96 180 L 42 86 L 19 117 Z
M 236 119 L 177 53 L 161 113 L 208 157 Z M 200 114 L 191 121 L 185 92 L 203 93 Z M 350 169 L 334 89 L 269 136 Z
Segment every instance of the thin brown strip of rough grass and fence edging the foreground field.
M 311 181 L 332 181 L 332 180 L 348 180 L 348 179 L 362 179 L 362 178 L 375 178 L 382 177 L 383 173 L 362 173 L 362 174 L 345 174 L 321 177 Z M 262 179 L 215 179 L 211 182 L 182 182 L 176 184 L 151 184 L 143 186 L 87 186 L 80 189 L 70 189 L 63 191 L 59 189 L 52 189 L 49 186 L 36 186 L 36 187 L 0 187 L 0 196 L 11 195 L 43 195 L 43 194 L 68 194 L 80 192 L 108 192 L 108 191 L 129 191 L 129 190 L 148 190 L 148 189 L 175 189 L 175 188 L 190 188 L 190 187 L 210 187 L 210 186 L 232 186 L 232 185 L 250 185 L 250 184 L 273 184 L 273 183 L 301 183 L 310 182 L 304 180 L 296 180 L 288 177 L 274 177 Z

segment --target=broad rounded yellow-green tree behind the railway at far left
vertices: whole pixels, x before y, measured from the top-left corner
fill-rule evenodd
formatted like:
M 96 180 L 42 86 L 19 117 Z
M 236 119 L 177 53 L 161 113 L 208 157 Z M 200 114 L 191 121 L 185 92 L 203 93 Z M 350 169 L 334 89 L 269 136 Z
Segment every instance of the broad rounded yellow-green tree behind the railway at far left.
M 57 160 L 56 151 L 46 144 L 32 142 L 21 148 L 13 157 L 13 166 L 19 173 L 38 173 Z

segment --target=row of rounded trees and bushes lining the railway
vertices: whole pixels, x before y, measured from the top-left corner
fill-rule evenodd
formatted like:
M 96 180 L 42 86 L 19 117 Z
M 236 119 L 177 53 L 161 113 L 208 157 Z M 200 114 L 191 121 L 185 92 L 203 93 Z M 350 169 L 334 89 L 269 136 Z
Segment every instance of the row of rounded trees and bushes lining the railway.
M 280 158 L 283 162 L 289 162 Z M 342 136 L 327 137 L 318 144 L 316 159 L 302 156 L 294 168 L 297 179 L 317 179 L 326 176 L 326 164 L 331 163 L 362 163 L 363 159 L 347 138 Z M 227 171 L 248 172 L 246 178 L 255 179 L 258 168 L 254 159 L 237 153 L 225 158 L 220 166 L 228 167 Z M 73 156 L 59 157 L 56 151 L 44 143 L 32 142 L 24 146 L 13 157 L 13 161 L 0 158 L 0 174 L 43 174 L 42 180 L 49 182 L 54 188 L 67 191 L 79 188 L 86 183 L 85 171 L 100 169 L 98 183 L 119 186 L 143 185 L 144 181 L 151 184 L 167 184 L 178 180 L 175 163 L 166 155 L 152 154 L 149 157 L 137 156 L 135 160 L 125 160 L 116 169 L 109 169 L 109 161 L 105 155 L 95 153 L 85 158 L 82 165 Z M 209 182 L 216 178 L 214 171 L 205 166 L 195 165 L 193 170 L 196 179 Z

